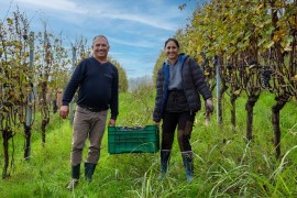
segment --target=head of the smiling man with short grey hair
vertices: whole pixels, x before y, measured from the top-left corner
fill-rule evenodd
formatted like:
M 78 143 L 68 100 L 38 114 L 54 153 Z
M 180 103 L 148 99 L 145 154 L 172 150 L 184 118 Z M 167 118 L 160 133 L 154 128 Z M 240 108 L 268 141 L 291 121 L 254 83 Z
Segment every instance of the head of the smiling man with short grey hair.
M 97 37 L 92 44 L 92 53 L 96 58 L 106 58 L 109 52 L 109 44 L 105 37 Z

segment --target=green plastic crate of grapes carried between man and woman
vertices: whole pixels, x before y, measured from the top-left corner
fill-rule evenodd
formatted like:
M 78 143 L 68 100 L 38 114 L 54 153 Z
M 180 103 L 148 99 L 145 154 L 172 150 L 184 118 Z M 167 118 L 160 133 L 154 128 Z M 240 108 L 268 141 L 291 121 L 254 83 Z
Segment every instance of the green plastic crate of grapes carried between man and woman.
M 108 127 L 108 152 L 120 153 L 156 153 L 160 150 L 158 128 Z

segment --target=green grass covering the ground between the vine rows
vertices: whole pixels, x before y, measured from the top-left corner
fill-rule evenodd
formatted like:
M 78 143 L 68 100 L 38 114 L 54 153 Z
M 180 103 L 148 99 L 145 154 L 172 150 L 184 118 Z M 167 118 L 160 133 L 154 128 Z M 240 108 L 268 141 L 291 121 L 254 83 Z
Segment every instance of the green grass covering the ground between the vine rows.
M 177 141 L 174 143 L 167 177 L 158 180 L 160 154 L 108 154 L 107 133 L 94 180 L 81 179 L 75 191 L 65 186 L 70 176 L 72 125 L 54 114 L 47 128 L 46 144 L 34 127 L 30 161 L 23 161 L 23 135 L 14 138 L 15 155 L 11 177 L 0 180 L 1 197 L 296 197 L 297 114 L 296 101 L 280 111 L 282 158 L 275 160 L 271 107 L 274 97 L 261 96 L 254 107 L 253 141 L 245 141 L 246 98 L 237 101 L 238 125 L 230 125 L 230 103 L 223 100 L 223 124 L 216 113 L 209 127 L 204 112 L 196 117 L 191 143 L 195 152 L 195 179 L 188 184 Z M 216 101 L 215 101 L 216 102 Z M 142 89 L 120 95 L 117 125 L 152 124 L 154 92 Z M 37 123 L 37 122 L 36 122 Z M 2 139 L 0 139 L 2 141 Z M 86 156 L 85 150 L 85 156 Z M 0 148 L 0 170 L 3 147 Z M 84 169 L 81 168 L 81 172 Z

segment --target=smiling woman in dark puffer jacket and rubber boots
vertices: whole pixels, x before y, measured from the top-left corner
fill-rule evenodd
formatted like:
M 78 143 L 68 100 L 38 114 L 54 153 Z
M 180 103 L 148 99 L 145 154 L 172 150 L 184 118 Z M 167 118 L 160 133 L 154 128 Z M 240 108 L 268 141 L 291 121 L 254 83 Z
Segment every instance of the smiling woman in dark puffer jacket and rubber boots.
M 169 162 L 174 133 L 177 127 L 177 139 L 182 152 L 187 180 L 194 176 L 190 134 L 196 112 L 201 109 L 200 95 L 206 101 L 207 112 L 213 111 L 211 91 L 202 70 L 194 58 L 179 54 L 179 44 L 168 38 L 164 46 L 167 59 L 160 68 L 156 80 L 156 99 L 153 120 L 162 124 L 161 175 L 163 179 Z

